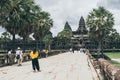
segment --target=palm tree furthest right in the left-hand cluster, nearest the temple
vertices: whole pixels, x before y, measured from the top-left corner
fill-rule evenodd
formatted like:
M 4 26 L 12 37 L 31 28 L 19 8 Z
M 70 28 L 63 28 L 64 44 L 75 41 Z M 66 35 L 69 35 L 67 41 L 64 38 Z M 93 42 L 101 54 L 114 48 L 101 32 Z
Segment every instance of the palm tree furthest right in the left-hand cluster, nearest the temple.
M 37 18 L 38 19 L 36 21 L 36 27 L 34 28 L 33 37 L 37 42 L 40 41 L 41 44 L 41 41 L 43 40 L 44 36 L 50 31 L 50 28 L 53 26 L 53 21 L 50 18 L 50 14 L 44 11 L 39 12 Z

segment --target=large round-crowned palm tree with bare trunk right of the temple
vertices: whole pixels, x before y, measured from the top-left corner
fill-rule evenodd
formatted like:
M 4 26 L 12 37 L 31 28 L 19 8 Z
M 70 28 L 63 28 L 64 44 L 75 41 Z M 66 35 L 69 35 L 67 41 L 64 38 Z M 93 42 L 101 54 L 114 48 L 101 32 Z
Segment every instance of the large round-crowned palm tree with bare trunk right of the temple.
M 110 34 L 113 28 L 113 15 L 104 7 L 99 7 L 89 13 L 86 23 L 89 28 L 89 35 L 98 40 L 98 53 L 100 53 L 103 39 Z

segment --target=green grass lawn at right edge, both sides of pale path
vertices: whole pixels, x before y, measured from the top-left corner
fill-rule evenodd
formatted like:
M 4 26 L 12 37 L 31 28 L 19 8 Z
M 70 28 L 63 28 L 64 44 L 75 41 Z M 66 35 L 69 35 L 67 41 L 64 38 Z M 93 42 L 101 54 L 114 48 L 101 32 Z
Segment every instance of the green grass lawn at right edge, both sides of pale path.
M 111 59 L 120 59 L 120 52 L 106 52 L 104 54 L 110 57 Z M 110 60 L 109 62 L 116 65 L 117 67 L 120 67 L 120 63 L 117 61 Z

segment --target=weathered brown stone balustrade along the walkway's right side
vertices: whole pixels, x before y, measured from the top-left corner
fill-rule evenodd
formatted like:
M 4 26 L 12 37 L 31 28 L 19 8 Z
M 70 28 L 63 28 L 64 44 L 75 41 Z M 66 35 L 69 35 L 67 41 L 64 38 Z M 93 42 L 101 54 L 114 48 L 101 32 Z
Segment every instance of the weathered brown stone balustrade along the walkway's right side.
M 96 69 L 98 74 L 102 76 L 100 80 L 120 80 L 120 68 L 111 64 L 103 58 L 96 59 L 90 53 L 88 57 L 91 59 L 91 62 Z

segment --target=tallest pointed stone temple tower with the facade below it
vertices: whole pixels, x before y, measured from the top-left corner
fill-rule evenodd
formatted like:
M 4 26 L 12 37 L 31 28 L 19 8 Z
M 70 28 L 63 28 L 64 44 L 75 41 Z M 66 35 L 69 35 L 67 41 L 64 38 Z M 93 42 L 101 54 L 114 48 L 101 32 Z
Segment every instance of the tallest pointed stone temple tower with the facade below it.
M 83 16 L 81 16 L 78 29 L 76 31 L 73 31 L 71 42 L 73 44 L 73 47 L 80 48 L 80 47 L 85 47 L 87 41 L 88 41 L 88 30 L 85 25 L 85 20 Z

